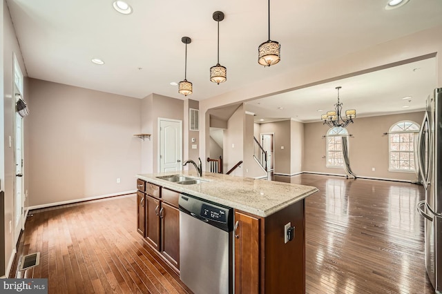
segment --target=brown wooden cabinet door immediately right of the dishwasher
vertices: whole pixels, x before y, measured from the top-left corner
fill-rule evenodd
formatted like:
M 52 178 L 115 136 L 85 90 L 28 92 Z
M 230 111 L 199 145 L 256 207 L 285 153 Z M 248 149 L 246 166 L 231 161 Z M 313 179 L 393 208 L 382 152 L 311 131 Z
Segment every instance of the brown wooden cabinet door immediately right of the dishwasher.
M 236 211 L 235 224 L 235 293 L 255 294 L 260 289 L 260 219 Z

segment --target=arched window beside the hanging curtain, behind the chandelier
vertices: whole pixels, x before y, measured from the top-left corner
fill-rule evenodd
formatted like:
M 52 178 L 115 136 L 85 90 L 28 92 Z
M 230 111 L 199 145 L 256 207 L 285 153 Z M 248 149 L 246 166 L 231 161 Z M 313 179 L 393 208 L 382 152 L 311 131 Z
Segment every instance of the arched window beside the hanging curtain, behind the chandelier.
M 346 128 L 331 128 L 327 132 L 327 168 L 343 168 L 343 143 L 340 137 L 347 136 Z

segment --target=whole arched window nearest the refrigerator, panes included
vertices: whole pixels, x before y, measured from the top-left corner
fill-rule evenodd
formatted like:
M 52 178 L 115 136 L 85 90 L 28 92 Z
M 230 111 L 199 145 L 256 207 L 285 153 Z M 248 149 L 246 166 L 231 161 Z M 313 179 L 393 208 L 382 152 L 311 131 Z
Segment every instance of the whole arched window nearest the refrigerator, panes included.
M 391 171 L 414 172 L 414 147 L 420 126 L 414 121 L 399 121 L 394 124 L 389 133 L 389 153 Z

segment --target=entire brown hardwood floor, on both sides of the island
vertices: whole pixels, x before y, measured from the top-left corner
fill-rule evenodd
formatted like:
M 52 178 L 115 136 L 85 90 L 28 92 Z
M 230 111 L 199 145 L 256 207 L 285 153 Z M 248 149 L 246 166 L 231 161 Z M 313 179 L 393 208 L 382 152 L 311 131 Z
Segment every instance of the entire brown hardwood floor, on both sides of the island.
M 307 293 L 434 293 L 425 275 L 421 186 L 320 175 L 306 200 Z M 48 277 L 49 293 L 189 293 L 136 232 L 135 195 L 32 212 L 11 277 Z M 39 266 L 17 271 L 39 251 Z

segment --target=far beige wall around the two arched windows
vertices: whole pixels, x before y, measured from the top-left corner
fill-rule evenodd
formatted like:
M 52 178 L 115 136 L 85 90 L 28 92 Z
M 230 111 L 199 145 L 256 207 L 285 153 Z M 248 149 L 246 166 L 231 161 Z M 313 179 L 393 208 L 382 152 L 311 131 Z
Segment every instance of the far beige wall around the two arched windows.
M 388 136 L 383 135 L 393 124 L 410 120 L 419 126 L 423 112 L 412 112 L 401 115 L 383 115 L 379 117 L 357 118 L 354 124 L 347 126 L 349 134 L 349 155 L 353 172 L 360 177 L 381 179 L 400 179 L 414 181 L 414 173 L 398 173 L 388 171 Z M 342 168 L 327 168 L 326 135 L 328 126 L 322 123 L 305 124 L 304 127 L 304 160 L 303 170 L 307 172 L 330 173 L 345 175 Z M 375 171 L 372 171 L 375 168 Z

